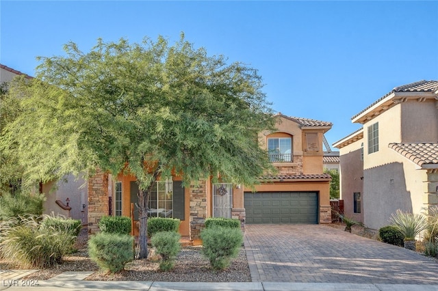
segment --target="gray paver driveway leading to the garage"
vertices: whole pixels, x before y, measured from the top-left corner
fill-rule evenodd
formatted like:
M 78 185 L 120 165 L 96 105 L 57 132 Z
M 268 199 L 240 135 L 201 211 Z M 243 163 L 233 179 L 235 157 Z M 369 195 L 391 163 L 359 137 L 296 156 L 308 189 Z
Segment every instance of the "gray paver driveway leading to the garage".
M 246 225 L 254 281 L 438 284 L 438 263 L 326 225 Z

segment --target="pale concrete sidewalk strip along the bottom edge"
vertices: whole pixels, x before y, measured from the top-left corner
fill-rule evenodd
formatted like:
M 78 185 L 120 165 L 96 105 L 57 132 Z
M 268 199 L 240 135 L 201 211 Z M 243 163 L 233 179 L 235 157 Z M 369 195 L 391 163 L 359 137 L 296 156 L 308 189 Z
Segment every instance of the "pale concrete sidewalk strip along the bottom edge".
M 288 291 L 288 290 L 375 290 L 375 291 L 438 291 L 438 285 L 401 284 L 355 284 L 355 283 L 287 283 L 287 282 L 246 282 L 246 283 L 202 283 L 202 282 L 149 282 L 149 281 L 39 281 L 38 286 L 29 280 L 3 281 L 3 290 L 148 290 L 148 291 Z M 37 282 L 33 282 L 37 283 Z M 18 285 L 18 286 L 17 286 Z

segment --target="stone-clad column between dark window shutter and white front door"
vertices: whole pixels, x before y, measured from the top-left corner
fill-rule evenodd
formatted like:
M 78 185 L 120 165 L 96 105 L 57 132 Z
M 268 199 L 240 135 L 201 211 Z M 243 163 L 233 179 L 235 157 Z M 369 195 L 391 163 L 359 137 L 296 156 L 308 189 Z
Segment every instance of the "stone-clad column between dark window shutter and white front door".
M 190 240 L 201 240 L 201 230 L 207 218 L 206 181 L 198 181 L 196 186 L 190 184 Z

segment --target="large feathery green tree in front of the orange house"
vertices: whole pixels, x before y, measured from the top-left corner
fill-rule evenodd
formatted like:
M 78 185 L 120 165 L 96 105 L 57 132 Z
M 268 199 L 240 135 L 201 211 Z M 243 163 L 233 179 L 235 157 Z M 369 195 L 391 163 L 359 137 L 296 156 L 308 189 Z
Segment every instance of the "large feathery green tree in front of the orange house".
M 5 126 L 1 150 L 18 153 L 29 183 L 96 167 L 136 176 L 136 258 L 147 255 L 148 199 L 159 176 L 253 185 L 270 169 L 257 134 L 274 120 L 254 68 L 209 56 L 183 34 L 172 45 L 159 37 L 64 49 L 41 57 L 36 78 L 11 92 L 21 114 Z

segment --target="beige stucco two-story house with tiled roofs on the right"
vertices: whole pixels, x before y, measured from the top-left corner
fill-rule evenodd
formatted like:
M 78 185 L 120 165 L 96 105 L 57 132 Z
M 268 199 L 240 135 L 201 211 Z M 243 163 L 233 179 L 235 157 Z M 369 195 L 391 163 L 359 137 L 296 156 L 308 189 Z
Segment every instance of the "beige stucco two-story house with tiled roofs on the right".
M 395 87 L 352 122 L 363 127 L 333 143 L 348 217 L 378 230 L 397 209 L 438 205 L 438 81 Z

